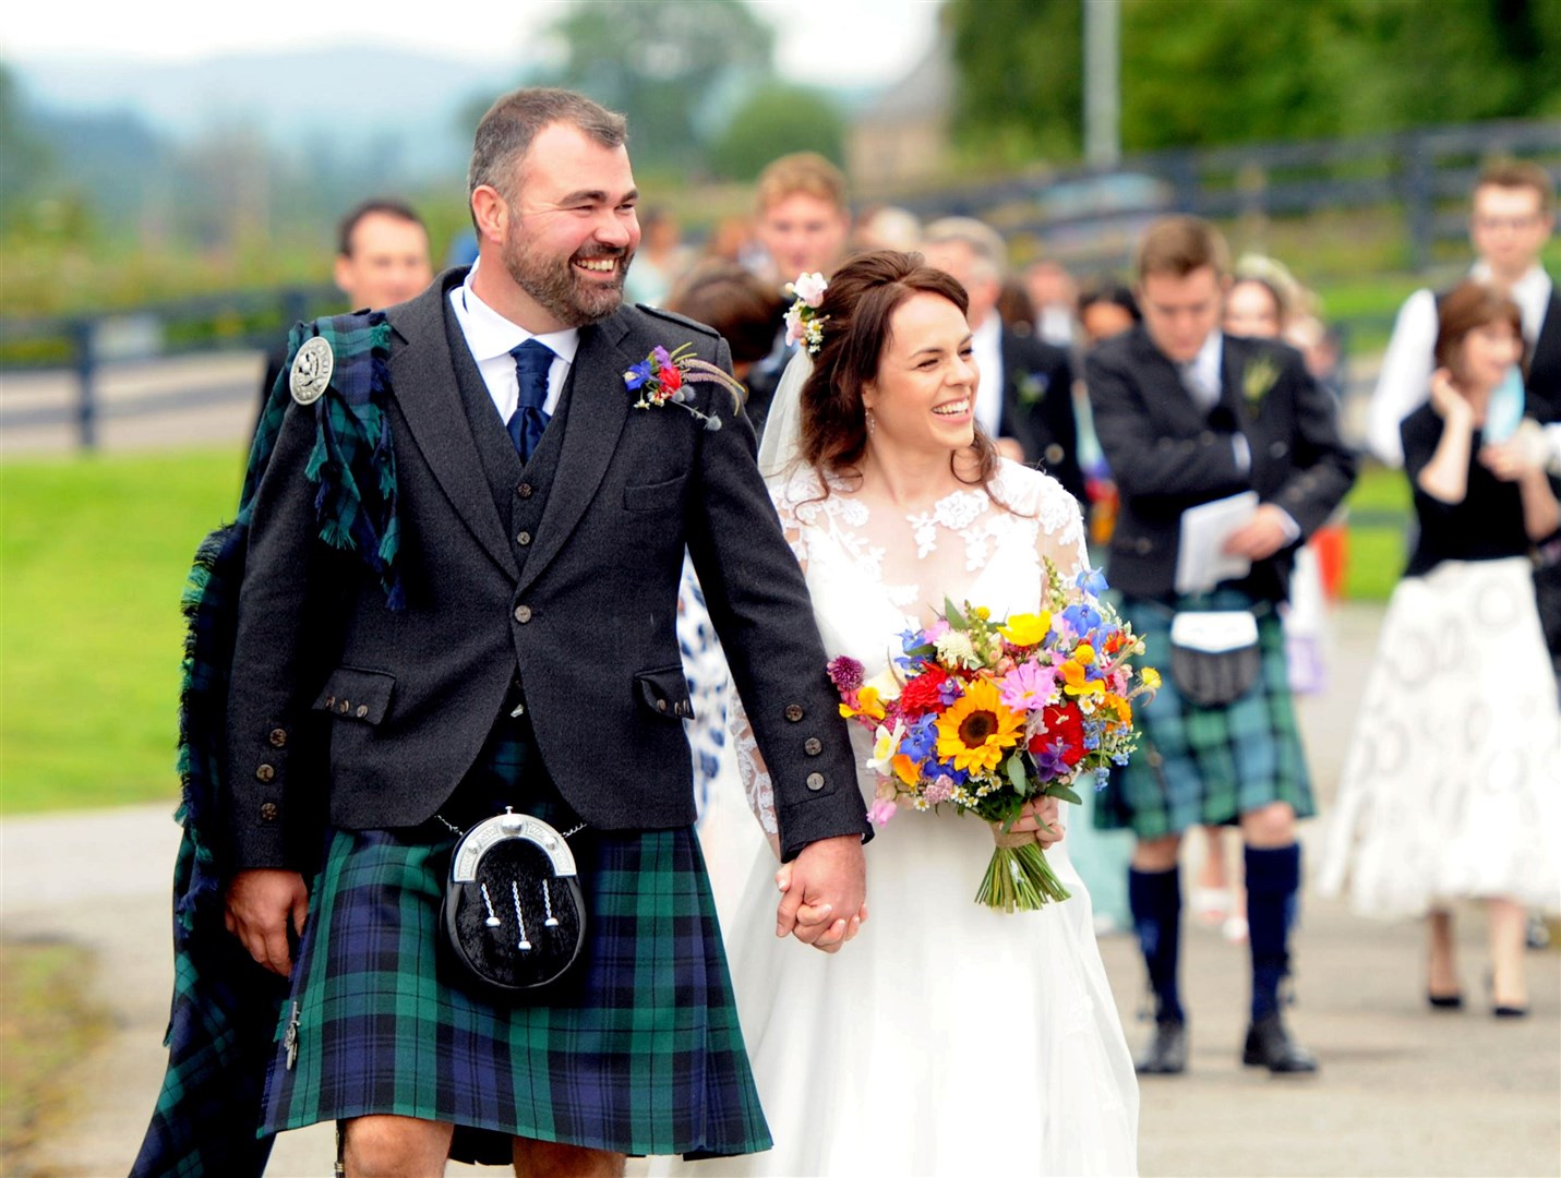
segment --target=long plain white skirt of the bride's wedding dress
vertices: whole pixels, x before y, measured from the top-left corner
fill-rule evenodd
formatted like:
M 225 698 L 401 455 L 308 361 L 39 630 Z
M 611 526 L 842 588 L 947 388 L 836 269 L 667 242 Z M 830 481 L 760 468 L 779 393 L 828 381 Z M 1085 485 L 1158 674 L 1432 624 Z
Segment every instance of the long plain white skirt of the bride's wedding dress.
M 1065 847 L 1047 858 L 1071 900 L 994 913 L 973 902 L 988 827 L 901 813 L 866 847 L 869 919 L 835 955 L 776 939 L 766 852 L 721 916 L 776 1147 L 649 1172 L 1136 1173 L 1138 1084 Z

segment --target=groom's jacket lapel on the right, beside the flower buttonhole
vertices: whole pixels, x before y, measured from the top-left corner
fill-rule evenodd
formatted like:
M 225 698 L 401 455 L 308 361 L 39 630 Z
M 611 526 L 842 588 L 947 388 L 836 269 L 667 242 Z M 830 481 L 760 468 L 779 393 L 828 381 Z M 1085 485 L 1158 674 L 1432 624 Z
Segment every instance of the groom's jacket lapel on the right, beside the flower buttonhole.
M 537 541 L 526 557 L 521 588 L 534 582 L 564 548 L 612 462 L 634 399 L 623 384 L 623 373 L 637 359 L 645 359 L 632 357 L 623 349 L 626 332 L 623 315 L 581 329 L 559 468 L 548 488 L 542 523 L 537 524 Z

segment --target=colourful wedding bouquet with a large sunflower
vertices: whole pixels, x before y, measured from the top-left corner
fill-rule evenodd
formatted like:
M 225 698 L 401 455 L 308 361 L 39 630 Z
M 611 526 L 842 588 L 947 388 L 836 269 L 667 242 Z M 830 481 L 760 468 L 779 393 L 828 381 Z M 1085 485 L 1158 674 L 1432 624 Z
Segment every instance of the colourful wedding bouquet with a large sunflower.
M 1076 785 L 1104 788 L 1138 743 L 1133 699 L 1160 676 L 1133 669 L 1144 644 L 1099 599 L 1104 588 L 1088 569 L 1069 585 L 1047 560 L 1040 613 L 997 623 L 982 605 L 946 599 L 943 616 L 907 630 L 904 654 L 871 680 L 854 658 L 829 663 L 840 715 L 873 732 L 876 825 L 902 804 L 948 804 L 991 824 L 997 847 L 977 903 L 1012 913 L 1066 900 L 1037 835 L 1013 825 L 1041 797 L 1079 802 Z

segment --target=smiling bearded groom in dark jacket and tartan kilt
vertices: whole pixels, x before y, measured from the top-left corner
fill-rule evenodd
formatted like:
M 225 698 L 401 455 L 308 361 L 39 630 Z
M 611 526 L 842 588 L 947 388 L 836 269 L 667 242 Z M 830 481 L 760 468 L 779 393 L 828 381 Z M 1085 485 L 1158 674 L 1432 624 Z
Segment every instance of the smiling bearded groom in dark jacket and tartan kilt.
M 628 1153 L 768 1147 L 692 830 L 685 548 L 793 861 L 776 933 L 835 950 L 862 919 L 851 746 L 752 429 L 720 382 L 649 407 L 626 382 L 659 346 L 731 365 L 707 328 L 623 306 L 624 140 L 581 95 L 500 98 L 468 178 L 476 265 L 312 325 L 336 376 L 320 396 L 295 360 L 300 404 L 254 495 L 226 921 L 290 975 L 261 1133 L 334 1119 L 350 1175 L 446 1156 L 610 1175 Z M 332 467 L 340 412 L 382 421 L 378 484 Z M 362 510 L 323 518 L 347 484 Z M 365 513 L 381 543 L 343 546 Z M 504 807 L 568 832 L 588 930 L 570 985 L 520 1003 L 436 953 L 456 832 Z

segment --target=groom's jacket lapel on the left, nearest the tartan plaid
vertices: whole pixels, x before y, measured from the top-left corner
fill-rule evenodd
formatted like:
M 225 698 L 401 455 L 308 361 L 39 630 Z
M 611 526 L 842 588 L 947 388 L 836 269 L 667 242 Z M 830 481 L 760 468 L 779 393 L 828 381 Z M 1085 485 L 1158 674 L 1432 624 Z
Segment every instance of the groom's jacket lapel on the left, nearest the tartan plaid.
M 446 270 L 411 303 L 386 312 L 390 326 L 404 340 L 390 353 L 390 389 L 414 443 L 456 515 L 498 566 L 517 577 L 520 573 L 506 543 L 504 521 L 482 476 L 445 337 L 445 298 L 464 276 L 464 270 Z

